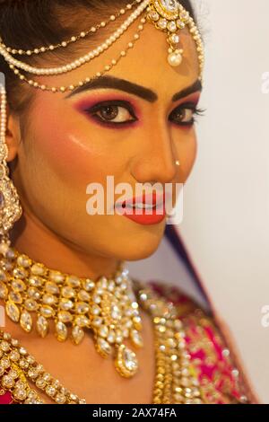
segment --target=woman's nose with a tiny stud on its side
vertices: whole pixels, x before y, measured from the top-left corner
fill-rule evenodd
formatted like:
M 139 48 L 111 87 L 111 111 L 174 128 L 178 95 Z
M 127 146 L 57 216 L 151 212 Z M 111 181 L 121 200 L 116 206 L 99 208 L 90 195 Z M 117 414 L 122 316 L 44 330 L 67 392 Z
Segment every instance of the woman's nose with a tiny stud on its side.
M 140 183 L 175 181 L 178 156 L 168 127 L 162 124 L 152 125 L 139 139 L 139 151 L 132 166 L 135 180 Z

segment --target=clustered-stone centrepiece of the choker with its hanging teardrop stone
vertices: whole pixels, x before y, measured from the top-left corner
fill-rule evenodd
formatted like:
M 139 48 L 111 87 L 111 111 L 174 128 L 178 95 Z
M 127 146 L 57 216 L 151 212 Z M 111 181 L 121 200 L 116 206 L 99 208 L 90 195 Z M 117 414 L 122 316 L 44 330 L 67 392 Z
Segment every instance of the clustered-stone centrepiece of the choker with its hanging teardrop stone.
M 143 347 L 143 339 L 138 303 L 126 276 L 127 271 L 115 281 L 101 277 L 96 283 L 90 303 L 90 326 L 100 355 L 111 356 L 114 345 L 117 371 L 129 378 L 136 373 L 138 362 L 135 353 L 123 341 L 130 338 L 134 347 L 139 348 Z

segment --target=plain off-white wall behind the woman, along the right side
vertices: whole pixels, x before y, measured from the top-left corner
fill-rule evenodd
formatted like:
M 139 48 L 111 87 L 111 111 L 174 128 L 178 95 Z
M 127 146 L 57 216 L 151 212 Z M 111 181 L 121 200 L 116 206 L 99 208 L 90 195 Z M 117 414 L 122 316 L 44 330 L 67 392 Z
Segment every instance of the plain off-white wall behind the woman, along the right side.
M 206 42 L 198 157 L 179 227 L 204 286 L 237 340 L 256 391 L 269 403 L 268 0 L 202 0 Z

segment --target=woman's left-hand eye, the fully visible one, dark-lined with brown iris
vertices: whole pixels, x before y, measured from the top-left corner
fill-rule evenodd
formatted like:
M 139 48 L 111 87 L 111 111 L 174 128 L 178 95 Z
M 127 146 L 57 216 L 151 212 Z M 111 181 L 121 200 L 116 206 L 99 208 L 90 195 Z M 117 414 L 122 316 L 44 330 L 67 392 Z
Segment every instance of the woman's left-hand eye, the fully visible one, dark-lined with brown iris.
M 136 120 L 130 107 L 118 103 L 103 103 L 89 112 L 94 119 L 108 124 L 124 125 Z

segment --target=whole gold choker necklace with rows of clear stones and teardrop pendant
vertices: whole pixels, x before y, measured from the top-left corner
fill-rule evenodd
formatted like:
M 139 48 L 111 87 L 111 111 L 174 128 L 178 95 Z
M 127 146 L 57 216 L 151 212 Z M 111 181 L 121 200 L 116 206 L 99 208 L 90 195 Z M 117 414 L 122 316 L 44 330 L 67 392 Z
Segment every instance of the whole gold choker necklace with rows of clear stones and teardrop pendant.
M 142 321 L 123 262 L 114 277 L 93 281 L 46 268 L 6 243 L 0 245 L 1 255 L 0 299 L 8 317 L 22 330 L 31 332 L 35 325 L 45 338 L 52 320 L 57 340 L 69 337 L 75 345 L 90 330 L 100 356 L 114 358 L 121 376 L 136 374 L 136 355 L 124 341 L 143 347 Z

